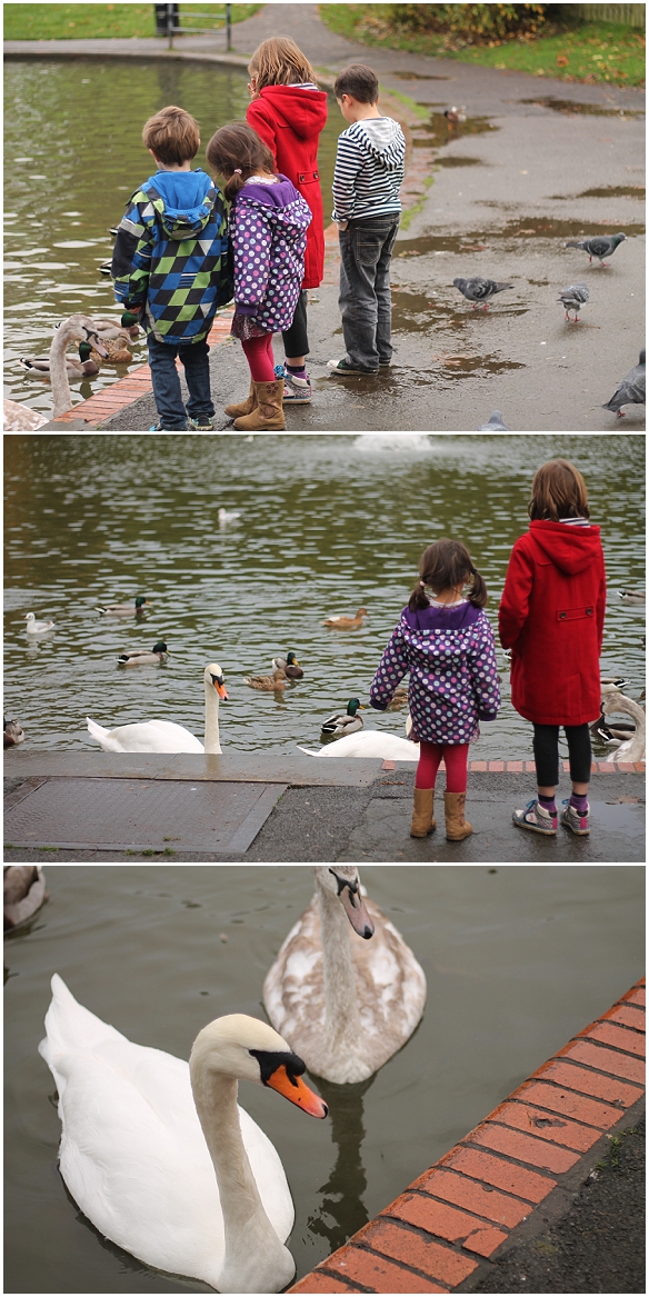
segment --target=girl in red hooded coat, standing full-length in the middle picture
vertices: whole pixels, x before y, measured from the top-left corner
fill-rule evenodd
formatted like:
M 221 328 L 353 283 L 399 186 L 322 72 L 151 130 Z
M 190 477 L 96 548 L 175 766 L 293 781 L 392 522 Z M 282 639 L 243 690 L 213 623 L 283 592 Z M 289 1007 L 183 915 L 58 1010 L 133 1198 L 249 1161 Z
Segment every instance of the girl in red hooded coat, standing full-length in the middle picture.
M 513 820 L 520 829 L 557 834 L 558 734 L 563 725 L 572 795 L 561 822 L 591 831 L 589 722 L 601 703 L 600 652 L 606 575 L 600 528 L 592 527 L 582 473 L 550 459 L 532 481 L 530 530 L 514 545 L 498 612 L 500 642 L 511 648 L 511 702 L 533 724 L 539 795 Z

